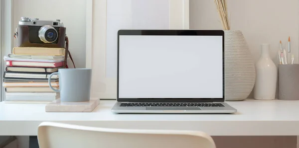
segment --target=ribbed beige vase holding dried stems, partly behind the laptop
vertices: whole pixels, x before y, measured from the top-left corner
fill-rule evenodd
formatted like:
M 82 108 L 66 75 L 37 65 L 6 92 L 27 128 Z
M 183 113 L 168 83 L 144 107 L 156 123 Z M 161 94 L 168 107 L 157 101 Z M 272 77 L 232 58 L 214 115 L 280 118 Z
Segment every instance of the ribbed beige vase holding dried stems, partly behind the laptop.
M 253 59 L 241 31 L 225 33 L 225 100 L 246 99 L 255 84 Z

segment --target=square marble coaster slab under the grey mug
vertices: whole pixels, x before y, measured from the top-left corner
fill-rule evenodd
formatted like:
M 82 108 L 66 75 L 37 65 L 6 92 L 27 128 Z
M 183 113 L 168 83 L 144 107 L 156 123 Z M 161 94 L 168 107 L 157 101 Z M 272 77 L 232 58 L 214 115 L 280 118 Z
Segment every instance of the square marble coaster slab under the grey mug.
M 99 103 L 99 98 L 90 98 L 89 102 L 61 102 L 56 99 L 46 105 L 46 112 L 92 112 Z

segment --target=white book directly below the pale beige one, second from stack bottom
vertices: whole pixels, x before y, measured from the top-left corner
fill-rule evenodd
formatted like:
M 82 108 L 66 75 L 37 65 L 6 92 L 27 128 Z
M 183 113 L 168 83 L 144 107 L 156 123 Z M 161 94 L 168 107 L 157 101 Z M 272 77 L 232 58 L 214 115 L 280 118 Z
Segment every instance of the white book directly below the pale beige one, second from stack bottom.
M 59 87 L 53 87 L 59 89 Z M 6 92 L 54 92 L 50 87 L 6 87 Z

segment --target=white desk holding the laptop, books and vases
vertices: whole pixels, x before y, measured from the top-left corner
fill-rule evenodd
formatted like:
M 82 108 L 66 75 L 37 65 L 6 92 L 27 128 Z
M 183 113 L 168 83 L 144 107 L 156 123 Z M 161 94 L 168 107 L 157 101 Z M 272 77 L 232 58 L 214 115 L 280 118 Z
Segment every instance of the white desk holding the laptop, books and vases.
M 198 130 L 212 136 L 299 135 L 299 101 L 227 102 L 235 114 L 115 114 L 114 100 L 101 100 L 91 113 L 47 113 L 45 104 L 0 102 L 1 135 L 36 135 L 43 121 L 128 128 Z

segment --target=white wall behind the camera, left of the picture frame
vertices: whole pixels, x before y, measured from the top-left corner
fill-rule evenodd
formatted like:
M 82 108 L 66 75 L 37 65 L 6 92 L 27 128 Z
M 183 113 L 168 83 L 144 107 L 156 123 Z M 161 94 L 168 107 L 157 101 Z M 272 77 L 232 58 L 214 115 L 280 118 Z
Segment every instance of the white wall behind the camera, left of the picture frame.
M 69 50 L 76 67 L 85 68 L 86 0 L 13 0 L 14 28 L 22 16 L 60 19 L 66 27 Z

